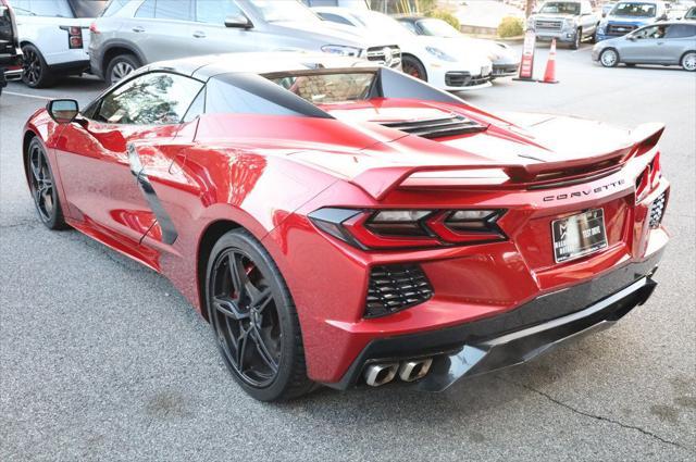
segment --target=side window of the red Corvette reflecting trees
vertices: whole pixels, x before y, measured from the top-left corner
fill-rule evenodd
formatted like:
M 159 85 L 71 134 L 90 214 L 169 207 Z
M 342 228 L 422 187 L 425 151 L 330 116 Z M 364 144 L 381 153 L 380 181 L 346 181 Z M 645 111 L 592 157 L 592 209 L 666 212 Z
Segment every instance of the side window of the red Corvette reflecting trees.
M 95 118 L 110 124 L 178 124 L 202 86 L 176 74 L 140 75 L 102 98 Z

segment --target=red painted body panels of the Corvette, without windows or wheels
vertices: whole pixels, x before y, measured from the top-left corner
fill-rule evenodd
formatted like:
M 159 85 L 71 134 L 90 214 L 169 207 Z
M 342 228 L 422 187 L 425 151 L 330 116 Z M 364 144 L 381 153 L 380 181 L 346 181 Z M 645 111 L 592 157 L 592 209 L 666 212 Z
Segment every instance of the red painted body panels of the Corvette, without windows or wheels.
M 252 233 L 287 282 L 308 373 L 323 383 L 339 380 L 372 339 L 493 316 L 645 260 L 667 244 L 666 232 L 649 228 L 647 221 L 649 204 L 669 185 L 651 178 L 636 198 L 636 178 L 658 154 L 657 138 L 635 139 L 636 134 L 600 124 L 548 116 L 535 117 L 527 130 L 474 108 L 422 101 L 323 109 L 337 118 L 215 114 L 159 127 L 59 126 L 39 111 L 27 130 L 48 148 L 69 223 L 162 272 L 199 311 L 198 259 L 206 230 L 225 221 Z M 451 112 L 488 128 L 432 140 L 375 123 Z M 173 244 L 163 239 L 165 229 L 130 173 L 128 142 L 176 229 Z M 616 166 L 599 178 L 530 188 L 552 168 L 570 172 L 607 159 L 616 159 Z M 485 185 L 415 175 L 481 168 L 500 168 L 511 179 Z M 361 250 L 312 224 L 308 214 L 325 207 L 504 209 L 498 225 L 507 238 Z M 555 263 L 551 222 L 597 208 L 604 209 L 608 247 Z M 370 267 L 398 262 L 421 264 L 433 298 L 364 319 Z

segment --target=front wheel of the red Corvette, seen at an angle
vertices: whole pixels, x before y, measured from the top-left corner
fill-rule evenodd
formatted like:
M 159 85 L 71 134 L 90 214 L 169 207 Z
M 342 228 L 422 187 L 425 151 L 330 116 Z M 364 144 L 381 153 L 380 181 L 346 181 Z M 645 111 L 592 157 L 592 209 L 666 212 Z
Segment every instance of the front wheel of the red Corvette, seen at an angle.
M 51 164 L 38 138 L 35 137 L 29 142 L 25 159 L 29 191 L 32 192 L 39 220 L 49 229 L 69 228 L 65 224 L 60 198 L 58 197 Z

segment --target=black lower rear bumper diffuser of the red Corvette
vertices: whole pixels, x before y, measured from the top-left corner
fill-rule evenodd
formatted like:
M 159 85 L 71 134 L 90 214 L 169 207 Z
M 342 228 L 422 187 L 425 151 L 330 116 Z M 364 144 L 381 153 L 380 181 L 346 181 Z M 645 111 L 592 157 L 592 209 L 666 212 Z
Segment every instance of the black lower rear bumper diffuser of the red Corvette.
M 651 276 L 662 251 L 494 317 L 375 339 L 340 382 L 326 385 L 337 389 L 360 385 L 369 364 L 432 358 L 431 372 L 413 385 L 421 390 L 442 391 L 460 378 L 524 363 L 564 340 L 609 327 L 645 303 L 655 289 Z

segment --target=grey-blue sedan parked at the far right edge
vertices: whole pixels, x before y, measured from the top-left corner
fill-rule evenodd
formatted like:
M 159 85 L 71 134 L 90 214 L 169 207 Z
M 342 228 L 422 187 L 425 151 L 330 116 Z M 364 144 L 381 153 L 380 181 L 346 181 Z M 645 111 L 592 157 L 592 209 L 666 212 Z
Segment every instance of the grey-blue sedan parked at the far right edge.
M 641 27 L 595 45 L 592 58 L 605 67 L 619 63 L 681 65 L 696 71 L 696 22 L 674 21 Z

